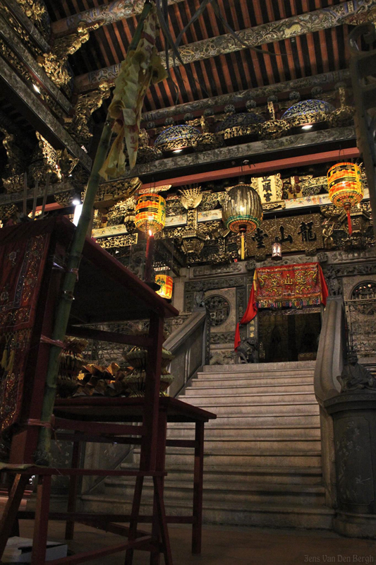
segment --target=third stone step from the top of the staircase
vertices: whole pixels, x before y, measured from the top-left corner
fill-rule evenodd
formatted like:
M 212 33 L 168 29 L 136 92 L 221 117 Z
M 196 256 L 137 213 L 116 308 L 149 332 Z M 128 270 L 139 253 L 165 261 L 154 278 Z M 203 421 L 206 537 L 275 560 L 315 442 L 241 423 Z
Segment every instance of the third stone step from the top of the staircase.
M 298 386 L 300 384 L 307 384 L 313 386 L 313 376 L 296 376 L 291 379 L 289 376 L 222 376 L 222 378 L 210 379 L 205 378 L 205 373 L 202 373 L 199 379 L 191 379 L 189 388 L 217 388 L 225 384 L 229 386 Z M 187 389 L 188 390 L 188 389 Z

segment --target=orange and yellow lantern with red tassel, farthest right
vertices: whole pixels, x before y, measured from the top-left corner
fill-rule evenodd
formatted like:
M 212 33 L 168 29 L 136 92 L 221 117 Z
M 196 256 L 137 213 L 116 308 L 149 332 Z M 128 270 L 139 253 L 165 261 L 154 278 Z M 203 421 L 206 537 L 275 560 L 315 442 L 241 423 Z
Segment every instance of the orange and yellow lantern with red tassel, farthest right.
M 338 208 L 347 213 L 348 233 L 351 235 L 350 210 L 363 198 L 363 184 L 360 168 L 355 163 L 338 163 L 327 172 L 329 198 Z

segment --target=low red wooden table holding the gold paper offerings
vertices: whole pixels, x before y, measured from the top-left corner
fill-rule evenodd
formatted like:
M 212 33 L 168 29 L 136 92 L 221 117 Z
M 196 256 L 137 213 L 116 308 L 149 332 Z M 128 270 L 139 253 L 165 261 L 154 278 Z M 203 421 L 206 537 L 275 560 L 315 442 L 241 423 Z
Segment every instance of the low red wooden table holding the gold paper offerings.
M 105 398 L 105 397 L 76 397 L 58 398 L 55 403 L 56 427 L 59 427 L 59 417 L 65 419 L 93 422 L 142 422 L 142 414 L 145 400 L 143 398 Z M 166 446 L 184 447 L 194 449 L 193 468 L 193 512 L 191 516 L 167 516 L 168 523 L 191 523 L 192 524 L 192 552 L 200 554 L 202 539 L 202 483 L 204 464 L 204 428 L 205 422 L 214 420 L 217 416 L 207 410 L 177 400 L 176 398 L 159 398 L 158 434 L 157 434 L 157 460 L 156 471 L 164 472 Z M 168 422 L 194 422 L 195 439 L 166 439 Z M 95 429 L 92 430 L 96 434 Z M 72 434 L 58 434 L 59 439 L 73 441 L 73 466 L 78 465 L 80 441 L 107 441 L 123 444 L 140 444 L 140 439 L 123 438 L 116 436 L 103 436 L 100 434 L 98 425 L 97 436 L 85 435 L 75 432 L 74 440 Z M 71 478 L 71 487 L 68 499 L 68 509 L 75 510 L 75 497 L 77 494 L 77 477 Z M 121 521 L 116 516 L 116 521 Z M 123 517 L 126 521 L 126 516 Z M 152 522 L 152 516 L 140 516 L 140 522 Z M 78 520 L 80 521 L 80 520 Z M 115 521 L 115 520 L 114 520 Z M 100 520 L 99 520 L 100 522 Z M 98 522 L 98 523 L 99 523 Z M 85 521 L 87 523 L 87 521 Z M 105 524 L 109 530 L 108 522 Z M 98 525 L 100 527 L 100 525 Z M 68 539 L 73 537 L 74 522 L 67 522 Z M 116 528 L 120 533 L 119 528 Z

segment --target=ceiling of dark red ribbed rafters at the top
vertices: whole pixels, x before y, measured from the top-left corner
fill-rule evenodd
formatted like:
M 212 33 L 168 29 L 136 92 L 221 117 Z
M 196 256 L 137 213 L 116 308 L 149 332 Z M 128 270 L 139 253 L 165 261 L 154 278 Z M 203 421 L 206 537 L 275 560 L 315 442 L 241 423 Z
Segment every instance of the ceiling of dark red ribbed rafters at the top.
M 171 35 L 175 38 L 193 16 L 200 1 L 174 2 L 169 6 L 169 23 Z M 53 29 L 57 30 L 61 25 L 61 22 L 56 23 L 59 20 L 108 2 L 47 0 L 46 4 L 54 23 Z M 255 41 L 258 41 L 255 45 L 261 45 L 262 49 L 276 56 L 236 46 L 238 50 L 210 57 L 213 44 L 207 41 L 198 45 L 196 42 L 222 36 L 221 46 L 214 45 L 217 49 L 214 49 L 214 53 L 229 50 L 229 44 L 234 42 L 223 38 L 228 31 L 215 18 L 209 5 L 183 36 L 182 46 L 190 45 L 185 51 L 186 59 L 198 60 L 171 69 L 171 76 L 178 85 L 178 94 L 171 79 L 152 86 L 145 99 L 146 111 L 348 67 L 348 25 L 344 23 L 343 14 L 339 21 L 338 13 L 331 8 L 339 4 L 338 0 L 218 0 L 218 4 L 231 28 L 236 31 L 253 28 L 257 37 Z M 342 3 L 343 6 L 345 4 L 359 2 Z M 256 26 L 301 15 L 305 15 L 304 22 L 302 19 L 290 19 L 272 28 L 264 26 L 256 29 Z M 108 73 L 111 76 L 114 73 L 113 66 L 119 64 L 126 54 L 136 25 L 137 18 L 133 16 L 107 23 L 92 31 L 90 40 L 70 58 L 75 77 L 80 77 L 76 85 L 79 84 L 82 90 L 90 88 L 87 73 L 99 69 L 107 69 L 104 75 Z M 320 29 L 307 32 L 313 28 Z M 268 37 L 278 37 L 279 40 L 265 42 Z M 247 38 L 249 40 L 250 36 Z M 162 34 L 157 48 L 164 50 Z

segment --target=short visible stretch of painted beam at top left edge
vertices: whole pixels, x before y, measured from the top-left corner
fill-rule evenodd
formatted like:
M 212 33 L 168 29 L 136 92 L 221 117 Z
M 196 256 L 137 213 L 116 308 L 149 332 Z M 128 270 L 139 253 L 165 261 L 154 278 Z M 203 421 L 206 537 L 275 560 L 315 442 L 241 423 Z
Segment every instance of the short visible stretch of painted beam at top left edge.
M 177 4 L 183 0 L 169 0 L 169 4 Z M 77 29 L 80 22 L 87 24 L 100 23 L 101 25 L 109 25 L 110 23 L 119 22 L 125 18 L 132 18 L 142 12 L 143 0 L 114 0 L 109 4 L 102 4 L 85 10 L 84 12 L 75 13 L 73 16 L 63 18 L 53 22 L 51 25 L 52 33 L 55 37 L 60 35 L 68 35 Z

